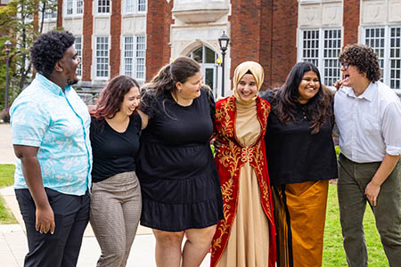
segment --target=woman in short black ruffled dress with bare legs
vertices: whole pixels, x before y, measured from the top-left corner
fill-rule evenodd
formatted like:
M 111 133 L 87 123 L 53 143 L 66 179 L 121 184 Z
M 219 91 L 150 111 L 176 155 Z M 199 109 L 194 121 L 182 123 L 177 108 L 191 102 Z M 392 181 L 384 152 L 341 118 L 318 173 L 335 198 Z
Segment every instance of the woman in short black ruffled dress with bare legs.
M 201 66 L 180 57 L 143 88 L 139 112 L 145 129 L 136 173 L 143 196 L 141 224 L 156 237 L 159 267 L 199 266 L 223 217 L 209 145 L 214 101 L 202 80 Z

